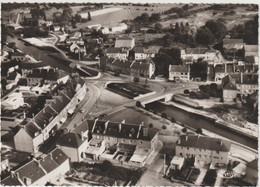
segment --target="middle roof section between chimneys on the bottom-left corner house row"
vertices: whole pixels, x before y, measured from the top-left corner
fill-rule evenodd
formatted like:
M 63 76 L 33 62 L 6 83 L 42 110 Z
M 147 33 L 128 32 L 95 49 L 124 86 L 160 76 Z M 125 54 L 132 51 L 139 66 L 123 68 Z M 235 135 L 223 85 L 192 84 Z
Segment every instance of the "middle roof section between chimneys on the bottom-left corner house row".
M 15 171 L 19 173 L 19 178 L 23 179 L 23 177 L 31 179 L 31 182 L 39 180 L 40 178 L 45 176 L 45 172 L 39 167 L 38 161 L 32 160 L 29 163 L 23 165 L 19 169 Z

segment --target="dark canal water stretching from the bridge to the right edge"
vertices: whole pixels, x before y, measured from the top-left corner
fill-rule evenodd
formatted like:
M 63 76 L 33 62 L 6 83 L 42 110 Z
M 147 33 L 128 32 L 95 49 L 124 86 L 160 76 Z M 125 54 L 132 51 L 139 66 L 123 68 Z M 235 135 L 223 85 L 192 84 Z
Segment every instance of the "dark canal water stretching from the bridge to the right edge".
M 168 117 L 174 118 L 190 127 L 196 129 L 203 128 L 253 149 L 258 149 L 257 140 L 238 134 L 225 127 L 218 126 L 214 123 L 214 121 L 207 120 L 196 114 L 186 112 L 174 106 L 165 105 L 161 102 L 150 103 L 148 104 L 148 107 L 155 109 L 157 112 L 166 113 Z

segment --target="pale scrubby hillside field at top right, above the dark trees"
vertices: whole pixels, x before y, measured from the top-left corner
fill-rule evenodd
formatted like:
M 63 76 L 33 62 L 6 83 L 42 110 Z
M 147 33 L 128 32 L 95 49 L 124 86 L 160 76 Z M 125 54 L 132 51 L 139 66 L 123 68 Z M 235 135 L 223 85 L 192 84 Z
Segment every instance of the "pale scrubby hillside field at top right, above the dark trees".
M 233 28 L 235 25 L 245 23 L 246 21 L 253 18 L 257 15 L 257 12 L 249 12 L 246 10 L 246 7 L 238 7 L 234 10 L 236 13 L 234 15 L 223 15 L 225 11 L 215 11 L 215 10 L 206 10 L 203 12 L 198 12 L 192 14 L 185 18 L 172 19 L 168 21 L 162 21 L 161 24 L 163 27 L 169 27 L 171 24 L 175 25 L 176 22 L 188 22 L 190 25 L 195 25 L 197 28 L 203 26 L 206 21 L 210 19 L 217 20 L 219 18 L 223 19 L 226 23 L 227 29 Z M 213 12 L 216 12 L 216 15 L 213 15 Z

